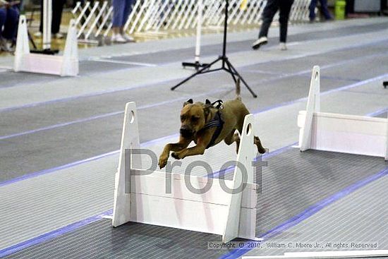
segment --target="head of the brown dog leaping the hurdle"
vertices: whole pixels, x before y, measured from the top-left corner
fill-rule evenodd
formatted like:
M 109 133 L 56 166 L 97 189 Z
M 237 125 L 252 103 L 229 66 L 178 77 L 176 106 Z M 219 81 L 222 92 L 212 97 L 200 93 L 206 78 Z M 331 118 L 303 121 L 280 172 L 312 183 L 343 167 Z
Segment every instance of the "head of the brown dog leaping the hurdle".
M 195 133 L 205 126 L 207 116 L 210 114 L 210 101 L 206 103 L 193 102 L 193 99 L 186 101 L 181 110 L 181 130 L 183 138 L 191 138 Z

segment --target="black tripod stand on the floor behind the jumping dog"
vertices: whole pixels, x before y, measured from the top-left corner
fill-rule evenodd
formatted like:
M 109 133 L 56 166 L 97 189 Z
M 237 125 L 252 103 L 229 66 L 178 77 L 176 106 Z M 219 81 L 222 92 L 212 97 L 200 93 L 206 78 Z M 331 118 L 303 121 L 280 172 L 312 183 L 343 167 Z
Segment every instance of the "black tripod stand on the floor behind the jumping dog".
M 226 56 L 226 33 L 228 30 L 229 0 L 225 0 L 225 1 L 226 1 L 226 6 L 225 6 L 225 20 L 224 20 L 224 43 L 222 46 L 222 56 L 219 56 L 216 60 L 212 61 L 210 64 L 206 64 L 203 68 L 201 68 L 197 72 L 193 73 L 193 75 L 189 76 L 185 80 L 181 81 L 181 83 L 178 83 L 177 85 L 172 87 L 171 90 L 175 90 L 176 88 L 178 88 L 178 86 L 182 85 L 183 83 L 186 83 L 188 80 L 190 80 L 191 78 L 193 78 L 199 74 L 224 70 L 224 71 L 231 74 L 231 77 L 233 78 L 234 83 L 236 83 L 236 81 L 237 81 L 236 77 L 240 78 L 240 80 L 243 82 L 245 87 L 248 88 L 249 92 L 253 95 L 253 97 L 255 97 L 255 98 L 257 97 L 255 92 L 253 92 L 253 90 L 250 89 L 249 85 L 245 82 L 244 78 L 242 76 L 240 76 L 240 74 L 236 71 L 236 68 L 234 68 L 234 66 L 231 64 L 228 57 Z M 221 68 L 209 69 L 212 65 L 216 64 L 218 61 L 222 61 Z

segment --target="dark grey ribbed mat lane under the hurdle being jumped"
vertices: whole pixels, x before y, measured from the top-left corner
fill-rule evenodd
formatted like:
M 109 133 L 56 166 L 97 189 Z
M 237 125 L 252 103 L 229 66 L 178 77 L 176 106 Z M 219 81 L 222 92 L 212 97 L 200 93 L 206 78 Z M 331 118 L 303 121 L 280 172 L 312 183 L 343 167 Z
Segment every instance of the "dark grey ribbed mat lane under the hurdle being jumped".
M 387 167 L 379 157 L 293 148 L 269 158 L 258 198 L 257 236 Z M 101 219 L 6 258 L 218 258 L 227 251 L 207 249 L 207 241 L 218 238 L 146 224 L 112 228 L 109 219 Z

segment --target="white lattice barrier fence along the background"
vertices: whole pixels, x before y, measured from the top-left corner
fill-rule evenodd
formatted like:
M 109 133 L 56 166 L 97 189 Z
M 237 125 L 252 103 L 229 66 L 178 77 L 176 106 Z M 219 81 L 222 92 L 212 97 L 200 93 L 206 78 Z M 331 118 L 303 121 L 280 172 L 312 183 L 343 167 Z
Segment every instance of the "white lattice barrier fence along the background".
M 259 25 L 262 11 L 267 0 L 230 0 L 228 24 Z M 308 21 L 310 0 L 295 0 L 291 8 L 290 21 Z M 200 8 L 202 6 L 202 8 Z M 198 23 L 198 11 L 201 11 L 204 29 L 222 29 L 224 23 L 224 0 L 138 0 L 128 16 L 124 30 L 129 34 L 159 35 L 167 32 L 179 32 L 193 29 Z M 90 4 L 77 2 L 73 8 L 73 18 L 78 26 L 78 39 L 93 42 L 90 36 L 109 34 L 113 8 L 107 1 L 95 1 Z M 279 16 L 275 16 L 277 20 Z M 92 34 L 92 31 L 95 34 Z

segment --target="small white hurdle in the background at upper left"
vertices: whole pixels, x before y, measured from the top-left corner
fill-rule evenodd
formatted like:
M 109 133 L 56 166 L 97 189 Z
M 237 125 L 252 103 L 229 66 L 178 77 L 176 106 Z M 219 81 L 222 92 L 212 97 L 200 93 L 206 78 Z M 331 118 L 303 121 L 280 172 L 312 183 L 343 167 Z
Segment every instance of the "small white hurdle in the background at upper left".
M 47 73 L 58 76 L 78 75 L 77 32 L 74 20 L 70 21 L 63 56 L 30 53 L 28 42 L 25 16 L 20 16 L 13 64 L 14 71 Z

